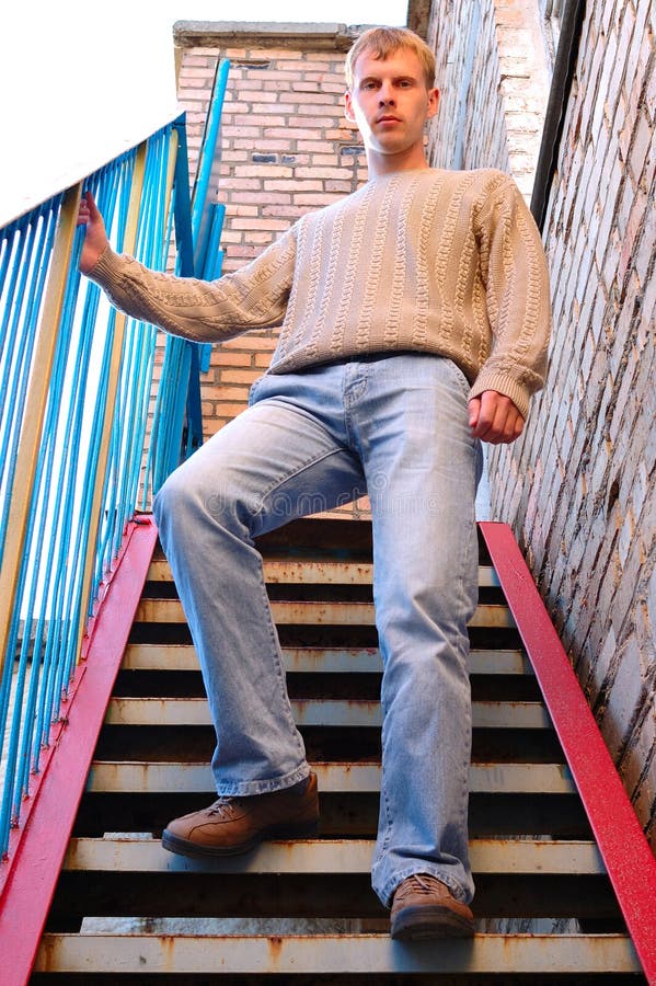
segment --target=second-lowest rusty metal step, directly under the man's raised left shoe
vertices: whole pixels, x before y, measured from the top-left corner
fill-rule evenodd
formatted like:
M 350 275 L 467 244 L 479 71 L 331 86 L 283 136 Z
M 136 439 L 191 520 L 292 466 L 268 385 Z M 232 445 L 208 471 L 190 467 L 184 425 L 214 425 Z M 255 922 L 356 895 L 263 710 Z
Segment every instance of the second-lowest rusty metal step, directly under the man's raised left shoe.
M 113 833 L 73 838 L 65 870 L 194 873 L 362 873 L 371 869 L 372 839 L 317 839 L 264 842 L 245 856 L 188 859 L 168 852 L 159 839 Z M 605 867 L 592 841 L 472 839 L 476 873 L 599 874 Z

